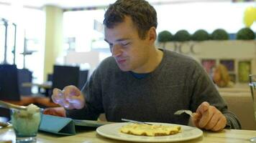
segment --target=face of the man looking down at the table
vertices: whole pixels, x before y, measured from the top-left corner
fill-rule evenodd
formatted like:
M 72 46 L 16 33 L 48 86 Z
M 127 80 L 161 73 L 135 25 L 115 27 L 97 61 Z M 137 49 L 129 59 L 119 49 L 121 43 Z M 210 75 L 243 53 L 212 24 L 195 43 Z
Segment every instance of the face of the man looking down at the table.
M 111 54 L 122 71 L 143 73 L 147 68 L 144 66 L 150 55 L 150 40 L 148 36 L 140 39 L 131 17 L 126 16 L 112 29 L 105 27 L 105 41 L 109 43 Z

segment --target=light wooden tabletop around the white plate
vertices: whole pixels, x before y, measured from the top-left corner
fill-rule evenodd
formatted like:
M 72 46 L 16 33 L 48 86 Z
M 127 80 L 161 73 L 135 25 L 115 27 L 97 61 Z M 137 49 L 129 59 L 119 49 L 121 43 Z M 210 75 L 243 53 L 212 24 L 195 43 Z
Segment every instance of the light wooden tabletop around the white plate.
M 221 132 L 205 132 L 203 137 L 197 139 L 188 140 L 180 143 L 205 143 L 205 142 L 218 142 L 218 143 L 245 143 L 250 142 L 251 137 L 256 137 L 256 131 L 252 130 L 235 130 L 235 129 L 224 129 Z M 0 129 L 0 142 L 6 142 L 12 140 L 15 141 L 15 134 L 12 127 Z M 123 143 L 124 141 L 108 139 L 101 137 L 96 133 L 95 130 L 83 130 L 73 136 L 59 136 L 55 134 L 40 132 L 37 135 L 37 142 L 80 142 L 80 143 Z M 125 143 L 125 142 L 124 142 Z M 128 142 L 127 142 L 128 143 Z

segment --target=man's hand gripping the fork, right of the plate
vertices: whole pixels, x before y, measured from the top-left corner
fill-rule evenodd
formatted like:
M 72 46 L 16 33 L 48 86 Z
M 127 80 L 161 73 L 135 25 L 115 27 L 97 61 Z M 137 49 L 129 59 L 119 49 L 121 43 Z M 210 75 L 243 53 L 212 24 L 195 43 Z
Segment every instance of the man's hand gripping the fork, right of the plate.
M 219 109 L 211 106 L 208 102 L 203 102 L 196 109 L 196 113 L 193 113 L 192 121 L 196 127 L 214 132 L 221 131 L 227 124 L 226 117 L 224 117 Z

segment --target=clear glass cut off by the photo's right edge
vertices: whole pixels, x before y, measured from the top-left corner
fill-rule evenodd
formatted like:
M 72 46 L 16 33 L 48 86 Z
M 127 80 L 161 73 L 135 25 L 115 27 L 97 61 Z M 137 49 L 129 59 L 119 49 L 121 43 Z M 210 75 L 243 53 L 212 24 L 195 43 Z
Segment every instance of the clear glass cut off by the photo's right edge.
M 249 85 L 250 85 L 251 94 L 252 94 L 254 117 L 256 122 L 256 74 L 249 75 L 249 82 L 250 82 Z M 250 142 L 256 142 L 256 137 L 252 137 L 252 139 L 250 139 Z

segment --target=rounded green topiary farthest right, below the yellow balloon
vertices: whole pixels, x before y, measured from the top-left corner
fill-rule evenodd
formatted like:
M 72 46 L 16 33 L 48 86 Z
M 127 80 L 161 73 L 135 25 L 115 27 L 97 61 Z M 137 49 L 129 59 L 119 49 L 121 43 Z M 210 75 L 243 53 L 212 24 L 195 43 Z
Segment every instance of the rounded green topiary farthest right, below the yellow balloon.
M 243 28 L 237 32 L 237 39 L 239 40 L 255 39 L 255 33 L 250 28 Z

